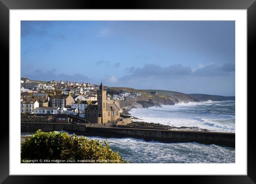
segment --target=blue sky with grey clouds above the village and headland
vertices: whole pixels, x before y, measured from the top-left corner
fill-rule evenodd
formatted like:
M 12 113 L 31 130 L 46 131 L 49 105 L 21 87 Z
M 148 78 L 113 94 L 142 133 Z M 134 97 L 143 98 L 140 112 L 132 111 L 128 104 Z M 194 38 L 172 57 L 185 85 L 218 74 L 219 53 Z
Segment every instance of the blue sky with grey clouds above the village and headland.
M 21 77 L 235 95 L 235 21 L 21 21 Z

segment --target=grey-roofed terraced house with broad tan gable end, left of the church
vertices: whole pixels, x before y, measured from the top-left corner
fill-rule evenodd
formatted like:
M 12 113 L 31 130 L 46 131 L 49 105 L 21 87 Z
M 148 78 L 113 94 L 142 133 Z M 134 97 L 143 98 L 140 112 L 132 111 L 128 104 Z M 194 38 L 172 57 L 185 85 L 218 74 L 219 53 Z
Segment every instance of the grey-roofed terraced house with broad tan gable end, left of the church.
M 70 108 L 73 103 L 73 97 L 66 94 L 56 94 L 50 98 L 51 107 Z

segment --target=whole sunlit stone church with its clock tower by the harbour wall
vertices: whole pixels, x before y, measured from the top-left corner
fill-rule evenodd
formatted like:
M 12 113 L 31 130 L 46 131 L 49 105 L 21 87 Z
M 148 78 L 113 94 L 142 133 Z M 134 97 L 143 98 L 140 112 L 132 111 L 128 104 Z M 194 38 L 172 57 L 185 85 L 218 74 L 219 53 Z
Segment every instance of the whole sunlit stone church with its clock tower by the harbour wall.
M 101 83 L 97 91 L 98 102 L 89 104 L 85 108 L 85 119 L 90 123 L 108 123 L 118 121 L 120 119 L 120 109 L 115 102 L 108 101 L 106 98 L 107 90 Z

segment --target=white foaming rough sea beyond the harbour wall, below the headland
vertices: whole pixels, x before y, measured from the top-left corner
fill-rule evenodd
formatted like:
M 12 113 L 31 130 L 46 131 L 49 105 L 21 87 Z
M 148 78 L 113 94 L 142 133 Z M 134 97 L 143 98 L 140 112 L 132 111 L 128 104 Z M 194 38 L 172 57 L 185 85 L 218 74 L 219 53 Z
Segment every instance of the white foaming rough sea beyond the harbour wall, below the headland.
M 199 127 L 210 131 L 235 132 L 235 101 L 178 103 L 174 106 L 133 108 L 134 121 L 175 127 Z

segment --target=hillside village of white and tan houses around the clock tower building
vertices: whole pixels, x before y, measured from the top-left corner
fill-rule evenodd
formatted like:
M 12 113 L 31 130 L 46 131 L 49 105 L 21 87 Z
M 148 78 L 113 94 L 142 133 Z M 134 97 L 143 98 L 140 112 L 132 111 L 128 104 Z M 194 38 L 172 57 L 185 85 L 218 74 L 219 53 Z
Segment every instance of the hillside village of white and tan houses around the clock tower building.
M 21 114 L 69 114 L 85 118 L 87 107 L 97 105 L 99 101 L 97 91 L 107 91 L 109 87 L 100 88 L 85 82 L 70 81 L 33 81 L 27 77 L 20 80 Z M 119 102 L 125 99 L 140 97 L 141 93 L 125 92 L 119 94 L 105 94 L 107 104 L 115 104 L 119 113 L 123 112 Z M 103 107 L 104 108 L 104 107 Z M 116 112 L 117 114 L 118 112 Z M 92 116 L 98 117 L 101 114 Z M 103 116 L 103 114 L 102 114 Z M 88 118 L 89 119 L 89 118 Z

